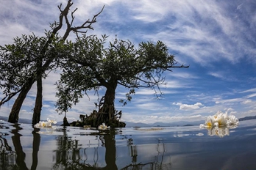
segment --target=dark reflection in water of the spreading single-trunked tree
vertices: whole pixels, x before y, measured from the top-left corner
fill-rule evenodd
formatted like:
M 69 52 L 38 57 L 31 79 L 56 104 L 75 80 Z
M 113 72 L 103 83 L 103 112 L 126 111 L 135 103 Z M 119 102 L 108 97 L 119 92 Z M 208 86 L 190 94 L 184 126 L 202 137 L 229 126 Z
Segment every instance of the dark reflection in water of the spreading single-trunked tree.
M 161 140 L 158 140 L 156 145 L 157 154 L 154 156 L 154 159 L 150 159 L 147 163 L 138 163 L 138 147 L 133 144 L 132 138 L 123 138 L 127 140 L 131 163 L 129 165 L 123 165 L 123 168 L 118 168 L 116 164 L 115 130 L 105 130 L 103 133 L 102 131 L 90 133 L 90 136 L 96 136 L 96 140 L 99 141 L 99 144 L 91 144 L 93 147 L 90 147 L 89 144 L 89 147 L 82 148 L 79 147 L 82 145 L 79 145 L 78 140 L 73 140 L 71 137 L 68 137 L 66 129 L 64 128 L 63 136 L 57 137 L 58 149 L 54 151 L 56 154 L 56 163 L 53 169 L 170 169 L 171 163 L 163 164 L 163 158 L 167 151 L 165 144 Z M 100 149 L 101 146 L 105 148 L 103 152 L 102 149 Z M 105 165 L 99 166 L 99 155 L 102 154 L 104 154 Z M 124 158 L 127 158 L 127 156 Z

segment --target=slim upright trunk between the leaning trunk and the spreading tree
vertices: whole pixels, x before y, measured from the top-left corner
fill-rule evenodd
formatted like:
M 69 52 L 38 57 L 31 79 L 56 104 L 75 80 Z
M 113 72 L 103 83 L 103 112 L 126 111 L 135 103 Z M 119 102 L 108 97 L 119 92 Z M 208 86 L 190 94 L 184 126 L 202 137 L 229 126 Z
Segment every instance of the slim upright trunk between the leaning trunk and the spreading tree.
M 40 121 L 42 106 L 43 106 L 42 75 L 40 73 L 38 73 L 37 97 L 35 99 L 35 108 L 34 108 L 34 113 L 33 113 L 33 118 L 32 118 L 32 125 L 35 125 Z

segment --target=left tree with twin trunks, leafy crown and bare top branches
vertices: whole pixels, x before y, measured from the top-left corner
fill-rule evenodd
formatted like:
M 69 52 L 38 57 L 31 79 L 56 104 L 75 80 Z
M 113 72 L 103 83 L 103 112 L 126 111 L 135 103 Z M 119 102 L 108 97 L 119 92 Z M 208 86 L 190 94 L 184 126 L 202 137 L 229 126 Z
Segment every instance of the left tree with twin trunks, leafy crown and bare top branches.
M 71 20 L 68 20 L 68 12 L 73 5 L 68 0 L 64 10 L 62 4 L 58 6 L 60 17 L 58 22 L 51 25 L 51 31 L 46 32 L 46 37 L 36 37 L 34 34 L 14 39 L 13 45 L 0 46 L 0 89 L 3 90 L 4 97 L 0 101 L 0 106 L 9 101 L 13 96 L 18 95 L 13 104 L 8 122 L 18 122 L 18 114 L 32 85 L 37 82 L 37 96 L 35 100 L 32 124 L 35 125 L 40 120 L 42 108 L 43 87 L 42 78 L 46 78 L 47 73 L 54 70 L 57 61 L 65 53 L 65 40 L 70 32 L 76 34 L 85 33 L 86 29 L 93 29 L 92 24 L 96 23 L 97 16 L 102 10 L 88 19 L 81 26 L 73 26 L 74 12 L 71 12 Z M 58 36 L 58 32 L 66 23 L 63 37 Z

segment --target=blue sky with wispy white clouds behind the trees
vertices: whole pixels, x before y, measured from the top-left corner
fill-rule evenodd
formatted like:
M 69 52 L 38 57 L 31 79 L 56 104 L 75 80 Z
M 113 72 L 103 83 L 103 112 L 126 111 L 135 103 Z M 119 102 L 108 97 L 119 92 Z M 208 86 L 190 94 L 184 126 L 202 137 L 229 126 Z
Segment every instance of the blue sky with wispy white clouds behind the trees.
M 58 20 L 58 0 L 4 0 L 0 6 L 0 45 L 12 44 L 21 34 L 43 36 L 49 23 Z M 165 73 L 166 86 L 160 99 L 152 89 L 135 89 L 127 106 L 118 100 L 127 89 L 118 86 L 115 107 L 122 110 L 124 122 L 177 122 L 205 120 L 217 111 L 235 117 L 256 115 L 256 1 L 254 0 L 73 0 L 75 26 L 81 25 L 104 6 L 88 34 L 107 34 L 108 41 L 118 37 L 139 42 L 163 41 L 178 64 L 189 68 L 174 68 Z M 65 32 L 63 28 L 60 35 Z M 70 34 L 68 40 L 74 40 Z M 51 72 L 43 80 L 43 108 L 41 119 L 63 121 L 54 103 L 59 72 Z M 36 86 L 24 101 L 20 118 L 32 119 Z M 100 95 L 104 94 L 101 89 Z M 0 99 L 3 97 L 0 91 Z M 0 108 L 7 116 L 13 106 L 13 97 Z M 90 92 L 67 113 L 69 122 L 79 114 L 90 114 L 98 96 Z

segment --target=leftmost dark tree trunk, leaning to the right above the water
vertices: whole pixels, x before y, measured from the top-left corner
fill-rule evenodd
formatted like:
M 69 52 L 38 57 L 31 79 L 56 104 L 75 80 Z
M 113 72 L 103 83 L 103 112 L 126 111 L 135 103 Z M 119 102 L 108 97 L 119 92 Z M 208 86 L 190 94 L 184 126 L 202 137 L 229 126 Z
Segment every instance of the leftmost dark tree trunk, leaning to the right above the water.
M 8 122 L 18 123 L 18 113 L 20 112 L 22 103 L 24 102 L 26 95 L 31 89 L 34 82 L 35 82 L 34 79 L 30 78 L 30 80 L 28 81 L 28 84 L 26 84 L 22 88 L 20 94 L 18 94 L 18 97 L 16 98 L 15 103 L 13 104 L 12 111 L 10 112 Z

